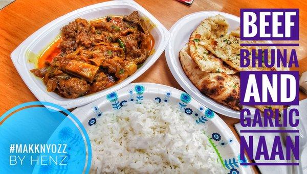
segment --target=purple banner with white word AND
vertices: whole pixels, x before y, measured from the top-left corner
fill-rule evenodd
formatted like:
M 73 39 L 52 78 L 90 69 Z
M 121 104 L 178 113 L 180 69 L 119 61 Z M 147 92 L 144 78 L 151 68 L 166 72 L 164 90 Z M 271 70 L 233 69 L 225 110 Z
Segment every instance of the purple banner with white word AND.
M 298 105 L 298 71 L 240 71 L 241 105 Z

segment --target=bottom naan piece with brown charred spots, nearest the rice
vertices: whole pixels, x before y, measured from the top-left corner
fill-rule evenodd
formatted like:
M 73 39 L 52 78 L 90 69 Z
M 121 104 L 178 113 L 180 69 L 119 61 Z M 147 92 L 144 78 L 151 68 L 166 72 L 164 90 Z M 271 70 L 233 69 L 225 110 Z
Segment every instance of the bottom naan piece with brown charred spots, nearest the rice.
M 202 93 L 231 109 L 237 111 L 241 109 L 239 105 L 239 77 L 224 72 L 202 71 L 191 58 L 188 45 L 181 49 L 179 59 L 187 77 Z

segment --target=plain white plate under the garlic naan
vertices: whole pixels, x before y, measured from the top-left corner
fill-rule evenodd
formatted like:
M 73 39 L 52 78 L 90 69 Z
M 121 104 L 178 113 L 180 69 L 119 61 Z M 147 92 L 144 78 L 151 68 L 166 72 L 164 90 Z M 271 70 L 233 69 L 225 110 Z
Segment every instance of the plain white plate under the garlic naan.
M 229 22 L 229 31 L 236 30 L 239 27 L 240 18 L 228 13 L 203 11 L 184 16 L 175 24 L 173 24 L 170 29 L 169 44 L 165 49 L 166 61 L 174 78 L 177 80 L 180 86 L 195 100 L 199 101 L 201 104 L 217 113 L 234 118 L 240 118 L 239 111 L 232 110 L 222 104 L 215 102 L 205 94 L 202 94 L 186 76 L 179 60 L 179 52 L 188 42 L 191 33 L 196 29 L 197 26 L 199 26 L 202 20 L 217 14 L 221 14 L 226 17 Z

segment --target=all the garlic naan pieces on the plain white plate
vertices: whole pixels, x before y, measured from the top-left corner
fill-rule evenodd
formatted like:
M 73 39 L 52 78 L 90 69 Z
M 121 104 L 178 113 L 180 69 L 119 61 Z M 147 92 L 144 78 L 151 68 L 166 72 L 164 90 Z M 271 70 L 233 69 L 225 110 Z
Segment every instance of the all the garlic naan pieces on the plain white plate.
M 201 22 L 191 34 L 189 42 L 180 53 L 179 59 L 182 68 L 190 81 L 202 93 L 211 97 L 214 101 L 228 106 L 234 110 L 241 110 L 240 106 L 240 78 L 235 74 L 243 70 L 289 70 L 289 68 L 267 68 L 263 59 L 256 60 L 262 67 L 240 67 L 240 49 L 268 49 L 268 60 L 271 61 L 271 49 L 269 46 L 240 46 L 240 31 L 228 33 L 228 22 L 222 15 L 209 17 Z M 264 41 L 244 41 L 244 43 L 266 43 Z M 264 53 L 256 52 L 256 56 L 262 57 Z M 249 56 L 251 58 L 251 56 Z M 250 59 L 251 60 L 251 59 Z M 279 109 L 285 106 L 255 106 L 262 112 L 269 109 Z

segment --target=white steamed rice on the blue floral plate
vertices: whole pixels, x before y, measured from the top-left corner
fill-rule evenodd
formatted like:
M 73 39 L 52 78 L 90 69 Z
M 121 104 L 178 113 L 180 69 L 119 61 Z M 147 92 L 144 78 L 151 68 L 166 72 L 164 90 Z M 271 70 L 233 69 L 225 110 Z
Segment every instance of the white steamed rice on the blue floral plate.
M 178 105 L 144 101 L 105 112 L 88 130 L 92 173 L 225 173 L 204 134 Z

